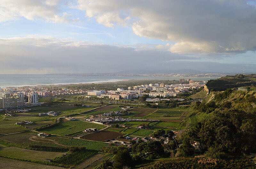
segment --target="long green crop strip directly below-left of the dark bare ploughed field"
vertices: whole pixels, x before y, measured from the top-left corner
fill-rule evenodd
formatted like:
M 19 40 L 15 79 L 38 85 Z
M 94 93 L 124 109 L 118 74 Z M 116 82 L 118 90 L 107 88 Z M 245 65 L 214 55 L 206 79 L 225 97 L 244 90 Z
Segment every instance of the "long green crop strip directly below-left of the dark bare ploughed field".
M 86 147 L 88 150 L 100 150 L 102 147 L 108 145 L 107 143 L 103 142 L 95 142 L 95 141 L 88 141 L 83 139 L 75 139 L 75 138 L 67 138 L 67 137 L 60 137 L 60 136 L 51 136 L 47 137 L 46 139 L 51 139 L 56 141 L 58 144 L 68 145 L 68 146 L 83 146 Z

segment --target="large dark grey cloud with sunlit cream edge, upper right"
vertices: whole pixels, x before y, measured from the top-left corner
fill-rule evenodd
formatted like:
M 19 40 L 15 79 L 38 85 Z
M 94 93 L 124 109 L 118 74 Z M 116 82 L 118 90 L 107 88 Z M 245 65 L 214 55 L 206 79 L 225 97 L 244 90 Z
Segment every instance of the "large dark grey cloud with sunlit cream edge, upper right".
M 96 18 L 99 24 L 129 25 L 138 36 L 174 42 L 168 49 L 173 53 L 210 55 L 256 49 L 256 9 L 246 0 L 77 3 L 78 9 L 84 10 L 87 17 Z

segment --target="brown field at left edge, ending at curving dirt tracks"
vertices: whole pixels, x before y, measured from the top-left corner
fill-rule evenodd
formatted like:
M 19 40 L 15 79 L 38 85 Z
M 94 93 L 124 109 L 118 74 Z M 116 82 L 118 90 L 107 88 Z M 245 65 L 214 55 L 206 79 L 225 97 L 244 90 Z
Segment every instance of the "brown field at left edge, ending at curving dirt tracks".
M 30 137 L 35 136 L 35 133 L 32 132 L 24 132 L 24 133 L 17 133 L 11 134 L 6 136 L 0 136 L 0 139 L 12 142 L 12 143 L 31 143 L 33 141 L 29 140 Z

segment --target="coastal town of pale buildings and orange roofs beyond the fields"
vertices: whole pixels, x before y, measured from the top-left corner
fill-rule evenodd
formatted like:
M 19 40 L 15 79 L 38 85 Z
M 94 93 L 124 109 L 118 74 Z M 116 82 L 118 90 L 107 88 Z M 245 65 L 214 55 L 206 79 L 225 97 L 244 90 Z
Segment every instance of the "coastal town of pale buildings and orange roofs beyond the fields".
M 164 83 L 144 84 L 129 86 L 127 89 L 117 88 L 116 90 L 75 90 L 60 88 L 53 90 L 48 86 L 25 86 L 0 88 L 0 109 L 38 106 L 38 98 L 61 98 L 68 95 L 77 95 L 84 100 L 92 97 L 108 100 L 137 99 L 143 95 L 149 98 L 171 98 L 192 89 L 199 89 L 206 82 L 194 82 L 191 79 L 180 79 L 178 84 L 167 85 Z M 148 100 L 149 101 L 149 100 Z M 151 100 L 152 101 L 152 100 Z

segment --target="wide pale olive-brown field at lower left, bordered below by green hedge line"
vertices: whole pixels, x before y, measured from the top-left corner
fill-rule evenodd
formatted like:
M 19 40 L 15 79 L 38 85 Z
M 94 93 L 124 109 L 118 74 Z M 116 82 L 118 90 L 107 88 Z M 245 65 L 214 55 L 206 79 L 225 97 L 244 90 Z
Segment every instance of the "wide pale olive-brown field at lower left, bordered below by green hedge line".
M 21 149 L 18 147 L 4 147 L 0 149 L 0 155 L 17 158 L 44 161 L 45 158 L 52 159 L 63 154 L 62 152 L 47 152 Z

